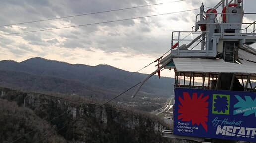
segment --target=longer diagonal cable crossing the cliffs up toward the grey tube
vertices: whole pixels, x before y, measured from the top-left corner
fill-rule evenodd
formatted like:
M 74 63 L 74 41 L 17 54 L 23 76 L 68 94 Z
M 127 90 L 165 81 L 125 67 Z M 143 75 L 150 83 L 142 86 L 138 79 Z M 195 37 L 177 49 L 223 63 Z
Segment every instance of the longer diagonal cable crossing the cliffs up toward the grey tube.
M 76 122 L 76 121 L 77 121 L 77 120 L 79 120 L 80 118 L 82 118 L 82 117 L 84 117 L 84 116 L 88 115 L 89 113 L 92 113 L 92 112 L 93 112 L 93 111 L 95 111 L 96 109 L 98 109 L 98 108 L 100 108 L 100 107 L 102 107 L 102 106 L 106 105 L 107 103 L 109 103 L 109 102 L 111 102 L 112 100 L 114 100 L 114 99 L 118 98 L 119 96 L 121 96 L 122 94 L 124 94 L 124 93 L 126 93 L 127 91 L 131 90 L 132 88 L 134 88 L 135 86 L 139 85 L 140 83 L 141 83 L 141 82 L 139 82 L 139 83 L 137 83 L 137 84 L 133 85 L 132 87 L 130 87 L 130 88 L 129 88 L 129 89 L 127 89 L 126 91 L 124 91 L 124 92 L 122 92 L 121 94 L 119 94 L 119 95 L 115 96 L 114 98 L 112 98 L 111 100 L 109 100 L 109 101 L 105 102 L 104 104 L 100 105 L 99 107 L 96 107 L 95 109 L 90 110 L 88 113 L 86 113 L 86 114 L 84 114 L 84 115 L 80 116 L 79 118 L 77 118 L 77 119 L 75 119 L 75 120 L 73 120 L 73 121 L 69 122 L 68 124 L 64 125 L 64 126 L 63 126 L 62 128 L 60 128 L 59 130 L 57 130 L 57 131 L 55 131 L 55 132 L 51 133 L 50 135 L 48 135 L 48 136 L 44 137 L 42 140 L 38 141 L 37 143 L 40 143 L 40 142 L 44 141 L 45 139 L 47 139 L 47 138 L 51 137 L 51 136 L 52 136 L 52 135 L 54 135 L 55 133 L 57 133 L 57 132 L 61 131 L 62 129 L 64 129 L 66 126 L 68 126 L 68 125 L 70 125 L 70 124 L 72 124 L 72 123 Z

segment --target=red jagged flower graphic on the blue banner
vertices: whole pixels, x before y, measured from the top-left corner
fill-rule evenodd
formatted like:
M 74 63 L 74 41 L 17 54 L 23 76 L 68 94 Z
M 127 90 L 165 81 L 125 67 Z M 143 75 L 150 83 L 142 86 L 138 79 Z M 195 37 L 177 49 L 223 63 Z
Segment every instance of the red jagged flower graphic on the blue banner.
M 197 96 L 197 93 L 193 93 L 192 99 L 188 92 L 183 92 L 183 98 L 179 97 L 179 109 L 178 119 L 190 122 L 192 121 L 192 125 L 202 125 L 203 128 L 208 131 L 208 126 L 206 122 L 208 122 L 208 99 L 209 95 L 203 97 L 203 93 Z

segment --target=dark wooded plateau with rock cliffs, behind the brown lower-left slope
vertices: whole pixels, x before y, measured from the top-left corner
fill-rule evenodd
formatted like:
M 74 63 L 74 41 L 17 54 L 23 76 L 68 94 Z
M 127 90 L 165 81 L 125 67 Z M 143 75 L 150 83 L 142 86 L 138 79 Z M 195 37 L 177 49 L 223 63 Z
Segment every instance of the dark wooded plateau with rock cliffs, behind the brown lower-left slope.
M 162 138 L 162 122 L 151 115 L 133 112 L 110 105 L 77 103 L 49 95 L 0 89 L 1 98 L 16 101 L 20 106 L 34 110 L 35 114 L 51 121 L 60 129 L 74 119 L 77 122 L 59 132 L 66 140 L 88 143 L 170 143 Z

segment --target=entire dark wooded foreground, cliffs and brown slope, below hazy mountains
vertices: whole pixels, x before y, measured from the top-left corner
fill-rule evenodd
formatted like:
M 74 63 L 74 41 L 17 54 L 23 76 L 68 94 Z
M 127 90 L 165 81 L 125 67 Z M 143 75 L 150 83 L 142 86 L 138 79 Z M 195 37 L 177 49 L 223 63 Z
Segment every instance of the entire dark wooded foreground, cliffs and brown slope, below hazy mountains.
M 76 119 L 43 143 L 172 142 L 161 137 L 168 125 L 141 111 L 111 104 L 99 107 L 83 97 L 64 99 L 6 88 L 0 88 L 0 93 L 0 143 L 10 143 L 27 133 L 14 143 L 36 143 Z

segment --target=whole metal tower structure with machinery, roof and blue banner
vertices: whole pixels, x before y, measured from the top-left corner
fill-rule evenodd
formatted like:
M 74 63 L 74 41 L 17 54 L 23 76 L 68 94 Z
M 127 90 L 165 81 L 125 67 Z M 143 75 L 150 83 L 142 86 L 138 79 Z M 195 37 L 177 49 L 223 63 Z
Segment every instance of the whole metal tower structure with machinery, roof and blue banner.
M 172 32 L 171 53 L 133 93 L 159 70 L 174 69 L 174 116 L 167 121 L 173 130 L 162 136 L 256 142 L 256 21 L 243 23 L 256 13 L 243 7 L 244 0 L 221 0 L 211 9 L 202 3 L 192 31 Z

